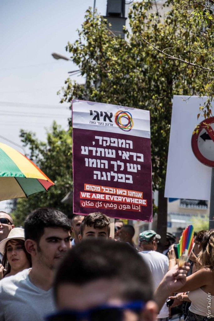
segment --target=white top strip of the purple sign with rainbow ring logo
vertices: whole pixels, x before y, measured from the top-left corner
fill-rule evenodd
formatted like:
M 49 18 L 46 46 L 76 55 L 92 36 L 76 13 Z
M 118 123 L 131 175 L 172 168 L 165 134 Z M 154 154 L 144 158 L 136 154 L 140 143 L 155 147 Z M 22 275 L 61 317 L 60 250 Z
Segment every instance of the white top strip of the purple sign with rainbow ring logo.
M 72 111 L 75 114 L 73 128 L 150 138 L 150 115 L 147 110 L 73 100 Z

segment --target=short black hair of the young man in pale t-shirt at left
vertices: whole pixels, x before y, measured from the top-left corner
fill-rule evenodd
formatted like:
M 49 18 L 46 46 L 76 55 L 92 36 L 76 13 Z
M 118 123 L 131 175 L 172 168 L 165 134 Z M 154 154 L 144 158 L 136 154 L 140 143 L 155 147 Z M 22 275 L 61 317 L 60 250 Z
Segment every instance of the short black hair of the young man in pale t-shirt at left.
M 71 223 L 64 213 L 54 208 L 38 208 L 24 221 L 25 239 L 32 239 L 39 244 L 46 227 L 61 227 L 69 231 Z

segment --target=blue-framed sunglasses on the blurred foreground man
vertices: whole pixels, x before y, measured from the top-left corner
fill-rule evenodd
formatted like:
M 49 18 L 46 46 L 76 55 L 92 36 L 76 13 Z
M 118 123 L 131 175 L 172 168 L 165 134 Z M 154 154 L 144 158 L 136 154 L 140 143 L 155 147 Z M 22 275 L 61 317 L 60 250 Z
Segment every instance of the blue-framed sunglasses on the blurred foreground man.
M 54 313 L 45 318 L 46 321 L 123 321 L 124 310 L 132 310 L 139 314 L 144 308 L 142 301 L 133 301 L 121 306 L 103 305 L 84 311 L 65 310 Z

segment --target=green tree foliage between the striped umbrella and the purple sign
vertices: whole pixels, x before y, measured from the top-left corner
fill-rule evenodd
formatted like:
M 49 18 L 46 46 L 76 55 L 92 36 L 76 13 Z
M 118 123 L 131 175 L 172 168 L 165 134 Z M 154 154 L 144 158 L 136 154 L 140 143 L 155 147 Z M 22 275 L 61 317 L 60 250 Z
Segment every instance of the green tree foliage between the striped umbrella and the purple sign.
M 61 203 L 61 200 L 72 190 L 72 131 L 65 131 L 53 123 L 47 133 L 47 141 L 42 142 L 31 132 L 21 130 L 20 137 L 25 147 L 29 149 L 26 155 L 54 183 L 48 192 L 37 193 L 28 198 L 20 198 L 13 213 L 16 226 L 23 225 L 27 214 L 38 207 L 53 207 L 66 214 L 72 213 L 71 205 Z

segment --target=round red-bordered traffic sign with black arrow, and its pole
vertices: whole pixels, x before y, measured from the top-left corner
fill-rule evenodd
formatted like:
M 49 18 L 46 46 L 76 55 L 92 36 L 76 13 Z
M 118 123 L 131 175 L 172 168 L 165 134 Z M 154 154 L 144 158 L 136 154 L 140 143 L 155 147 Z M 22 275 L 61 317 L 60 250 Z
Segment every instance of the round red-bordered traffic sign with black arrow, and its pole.
M 204 165 L 212 167 L 209 229 L 214 228 L 214 117 L 203 120 L 192 135 L 192 151 Z

